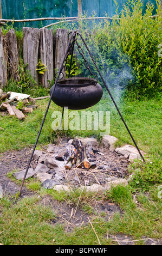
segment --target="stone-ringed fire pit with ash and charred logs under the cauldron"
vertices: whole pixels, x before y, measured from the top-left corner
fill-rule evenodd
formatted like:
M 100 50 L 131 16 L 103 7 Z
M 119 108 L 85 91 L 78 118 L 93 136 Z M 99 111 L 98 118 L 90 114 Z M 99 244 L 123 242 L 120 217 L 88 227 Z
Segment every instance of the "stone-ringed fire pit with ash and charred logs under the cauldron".
M 129 161 L 115 150 L 99 145 L 95 138 L 48 144 L 47 149 L 35 151 L 33 161 L 31 175 L 46 189 L 105 191 L 113 183 L 127 185 L 129 176 Z

